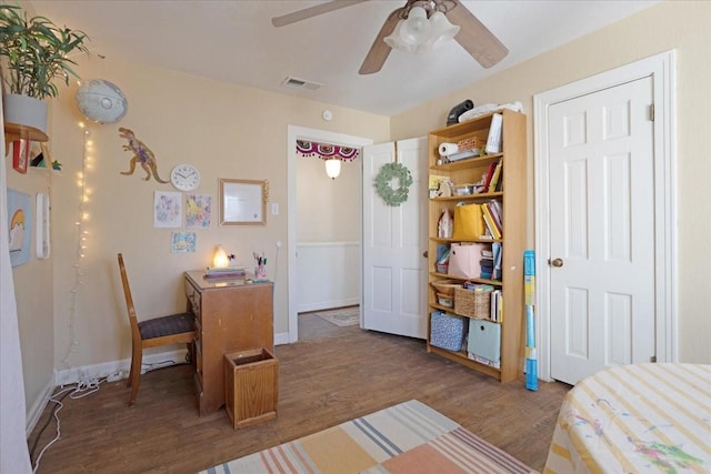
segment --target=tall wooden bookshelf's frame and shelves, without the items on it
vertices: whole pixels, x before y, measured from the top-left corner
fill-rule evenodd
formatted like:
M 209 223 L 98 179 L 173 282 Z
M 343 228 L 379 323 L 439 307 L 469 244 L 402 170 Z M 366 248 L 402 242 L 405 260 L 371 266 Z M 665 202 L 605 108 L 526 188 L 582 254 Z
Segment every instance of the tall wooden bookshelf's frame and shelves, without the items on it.
M 428 282 L 451 279 L 457 281 L 473 281 L 490 284 L 502 291 L 503 317 L 501 323 L 501 362 L 500 367 L 487 365 L 468 357 L 465 351 L 448 351 L 430 344 L 431 314 L 433 311 L 444 311 L 449 315 L 458 315 L 453 309 L 442 306 L 438 302 L 437 292 L 428 284 L 428 339 L 427 350 L 451 361 L 509 382 L 522 379 L 523 347 L 524 347 L 524 305 L 523 305 L 523 250 L 525 248 L 525 186 L 527 186 L 527 147 L 525 147 L 525 115 L 510 110 L 500 112 L 502 123 L 502 152 L 464 159 L 451 163 L 440 163 L 439 147 L 444 142 L 458 142 L 464 139 L 479 138 L 485 142 L 491 125 L 492 113 L 453 124 L 429 133 L 429 170 L 430 174 L 449 177 L 454 184 L 475 183 L 487 172 L 492 162 L 501 161 L 503 165 L 501 191 L 484 192 L 469 195 L 447 198 L 430 198 L 429 200 L 429 245 L 428 245 Z M 438 236 L 438 222 L 442 210 L 448 208 L 452 215 L 459 202 L 483 203 L 495 199 L 503 205 L 501 239 L 443 239 Z M 501 280 L 464 279 L 447 273 L 437 272 L 437 249 L 439 245 L 454 242 L 500 242 L 502 246 Z

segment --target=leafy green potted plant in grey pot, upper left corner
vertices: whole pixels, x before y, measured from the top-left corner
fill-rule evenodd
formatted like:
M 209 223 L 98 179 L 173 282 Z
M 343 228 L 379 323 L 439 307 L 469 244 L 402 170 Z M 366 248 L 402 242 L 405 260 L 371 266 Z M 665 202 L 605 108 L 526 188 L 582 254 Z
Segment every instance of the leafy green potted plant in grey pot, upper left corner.
M 6 122 L 32 127 L 46 132 L 44 99 L 59 95 L 54 81 L 69 84 L 77 63 L 69 54 L 87 52 L 87 34 L 80 30 L 60 28 L 46 17 L 28 17 L 17 6 L 0 6 L 0 59 L 2 81 L 7 90 L 2 102 Z M 34 108 L 30 112 L 26 107 Z M 20 109 L 18 109 L 20 107 Z M 39 110 L 37 110 L 39 109 Z M 33 113 L 39 113 L 36 118 Z

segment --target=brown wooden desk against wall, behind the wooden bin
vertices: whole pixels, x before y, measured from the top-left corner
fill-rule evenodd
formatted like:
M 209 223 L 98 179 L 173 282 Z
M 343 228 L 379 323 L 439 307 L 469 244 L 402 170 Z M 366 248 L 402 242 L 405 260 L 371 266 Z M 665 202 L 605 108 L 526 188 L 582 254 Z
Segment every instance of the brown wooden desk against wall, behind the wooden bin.
M 223 354 L 263 347 L 273 353 L 273 284 L 204 279 L 186 272 L 188 310 L 196 314 L 196 390 L 200 416 L 224 404 Z

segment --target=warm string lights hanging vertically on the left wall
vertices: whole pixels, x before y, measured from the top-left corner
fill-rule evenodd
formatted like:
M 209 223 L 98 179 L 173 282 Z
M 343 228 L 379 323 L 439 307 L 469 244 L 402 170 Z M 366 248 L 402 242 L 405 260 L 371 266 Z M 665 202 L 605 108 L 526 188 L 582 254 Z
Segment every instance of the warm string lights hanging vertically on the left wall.
M 90 138 L 89 130 L 86 124 L 83 122 L 79 122 L 79 128 L 83 130 L 84 143 L 83 154 L 81 158 L 81 171 L 77 173 L 77 186 L 79 188 L 80 195 L 79 209 L 77 210 L 78 219 L 74 222 L 77 228 L 77 253 L 74 263 L 71 265 L 74 269 L 74 285 L 70 290 L 71 301 L 69 304 L 69 333 L 71 342 L 69 344 L 69 350 L 67 351 L 67 356 L 62 360 L 62 363 L 64 363 L 68 369 L 73 367 L 71 356 L 79 350 L 79 339 L 77 337 L 77 315 L 79 312 L 77 295 L 79 294 L 81 286 L 84 284 L 84 273 L 82 271 L 81 260 L 86 255 L 84 251 L 87 250 L 87 238 L 89 235 L 89 232 L 83 228 L 84 222 L 89 220 L 89 213 L 84 211 L 84 204 L 89 202 L 89 195 L 91 194 L 91 191 L 87 188 L 87 169 L 90 168 L 90 152 L 93 147 L 93 141 Z

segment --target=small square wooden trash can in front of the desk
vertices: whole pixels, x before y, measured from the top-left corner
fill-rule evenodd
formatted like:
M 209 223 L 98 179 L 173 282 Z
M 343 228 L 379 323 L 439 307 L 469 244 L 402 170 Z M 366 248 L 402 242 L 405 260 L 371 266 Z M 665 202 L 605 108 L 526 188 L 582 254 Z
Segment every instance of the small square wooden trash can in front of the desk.
M 268 350 L 224 354 L 224 409 L 234 428 L 277 417 L 279 362 Z

